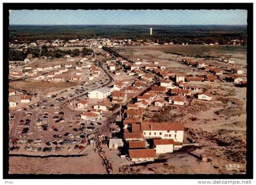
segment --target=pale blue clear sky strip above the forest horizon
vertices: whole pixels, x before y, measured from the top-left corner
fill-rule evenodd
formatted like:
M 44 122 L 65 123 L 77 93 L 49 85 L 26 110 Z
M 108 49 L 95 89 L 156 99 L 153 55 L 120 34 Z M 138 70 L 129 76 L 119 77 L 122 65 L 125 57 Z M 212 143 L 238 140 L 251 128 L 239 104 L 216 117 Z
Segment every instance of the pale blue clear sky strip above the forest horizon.
M 246 10 L 10 10 L 9 23 L 23 25 L 247 25 Z

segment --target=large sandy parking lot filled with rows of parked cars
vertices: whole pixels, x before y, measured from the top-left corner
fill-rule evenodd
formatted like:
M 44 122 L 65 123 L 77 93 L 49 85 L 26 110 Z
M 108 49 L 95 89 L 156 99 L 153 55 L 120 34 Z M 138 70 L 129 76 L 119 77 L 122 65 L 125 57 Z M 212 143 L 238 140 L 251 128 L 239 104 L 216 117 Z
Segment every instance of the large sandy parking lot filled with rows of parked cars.
M 10 110 L 10 153 L 77 155 L 85 149 L 87 140 L 103 136 L 102 133 L 109 135 L 106 117 L 94 123 L 83 121 L 81 110 L 67 106 L 73 99 L 85 98 L 90 90 L 109 84 L 110 78 L 103 71 L 102 76 L 105 78 L 81 81 L 47 96 L 33 94 L 40 101 Z

